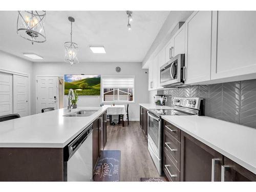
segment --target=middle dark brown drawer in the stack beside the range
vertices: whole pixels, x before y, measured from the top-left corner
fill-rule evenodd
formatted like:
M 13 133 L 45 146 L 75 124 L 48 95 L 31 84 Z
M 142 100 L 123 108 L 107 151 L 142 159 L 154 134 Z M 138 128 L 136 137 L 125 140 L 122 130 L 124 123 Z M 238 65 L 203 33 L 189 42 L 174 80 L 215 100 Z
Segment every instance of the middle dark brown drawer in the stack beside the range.
M 180 170 L 180 142 L 177 141 L 167 131 L 163 133 L 163 151 L 173 161 L 175 166 Z

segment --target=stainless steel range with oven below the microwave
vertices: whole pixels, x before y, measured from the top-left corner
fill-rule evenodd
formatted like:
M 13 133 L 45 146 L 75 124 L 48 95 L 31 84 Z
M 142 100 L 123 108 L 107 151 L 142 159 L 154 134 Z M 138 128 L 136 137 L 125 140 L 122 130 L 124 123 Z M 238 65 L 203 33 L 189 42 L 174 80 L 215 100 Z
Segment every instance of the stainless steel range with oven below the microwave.
M 200 115 L 202 99 L 175 97 L 173 109 L 148 110 L 148 151 L 161 175 L 162 118 L 163 115 Z

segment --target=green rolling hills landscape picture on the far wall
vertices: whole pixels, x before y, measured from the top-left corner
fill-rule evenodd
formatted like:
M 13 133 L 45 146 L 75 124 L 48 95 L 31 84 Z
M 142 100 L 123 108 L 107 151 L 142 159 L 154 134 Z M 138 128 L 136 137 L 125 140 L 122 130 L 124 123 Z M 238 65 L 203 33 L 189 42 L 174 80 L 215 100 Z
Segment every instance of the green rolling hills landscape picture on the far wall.
M 100 75 L 64 75 L 65 95 L 73 89 L 78 95 L 100 95 Z

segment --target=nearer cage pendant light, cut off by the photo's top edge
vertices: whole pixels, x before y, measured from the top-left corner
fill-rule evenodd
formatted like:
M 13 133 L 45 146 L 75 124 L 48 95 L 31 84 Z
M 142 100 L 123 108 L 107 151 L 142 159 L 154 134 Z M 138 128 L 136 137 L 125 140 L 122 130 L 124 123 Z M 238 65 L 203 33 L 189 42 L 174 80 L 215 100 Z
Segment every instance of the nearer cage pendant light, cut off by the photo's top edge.
M 17 34 L 34 42 L 45 42 L 46 11 L 18 11 Z

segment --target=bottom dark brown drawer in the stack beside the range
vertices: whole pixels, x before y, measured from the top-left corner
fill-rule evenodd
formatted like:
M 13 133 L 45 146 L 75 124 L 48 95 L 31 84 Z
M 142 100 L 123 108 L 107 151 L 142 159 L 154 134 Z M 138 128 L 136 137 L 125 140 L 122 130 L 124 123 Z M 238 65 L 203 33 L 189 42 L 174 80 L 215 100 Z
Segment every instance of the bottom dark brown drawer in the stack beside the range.
M 163 171 L 169 181 L 180 181 L 180 172 L 166 153 L 163 153 Z

